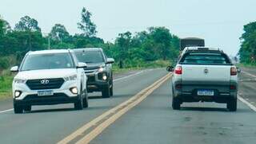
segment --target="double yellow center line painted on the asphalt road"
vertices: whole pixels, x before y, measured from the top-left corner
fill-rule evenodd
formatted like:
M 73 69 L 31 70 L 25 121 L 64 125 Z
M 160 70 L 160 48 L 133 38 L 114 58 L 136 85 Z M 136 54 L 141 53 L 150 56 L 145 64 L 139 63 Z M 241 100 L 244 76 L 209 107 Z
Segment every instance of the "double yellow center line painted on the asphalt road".
M 143 99 L 146 99 L 146 97 L 150 95 L 155 89 L 159 88 L 164 82 L 166 82 L 166 80 L 170 79 L 170 76 L 170 74 L 163 76 L 160 80 L 154 82 L 154 84 L 151 84 L 149 87 L 138 92 L 137 95 L 134 95 L 130 99 L 119 104 L 117 107 L 106 111 L 102 115 L 98 116 L 98 118 L 90 121 L 90 123 L 86 123 L 86 125 L 82 126 L 78 130 L 74 131 L 74 133 L 62 139 L 62 141 L 58 142 L 58 144 L 89 143 L 94 138 L 96 138 L 98 134 L 101 134 L 102 131 L 106 129 L 106 127 L 110 126 L 110 124 L 114 123 L 122 115 L 126 114 L 127 111 L 138 105 L 138 103 L 141 103 Z

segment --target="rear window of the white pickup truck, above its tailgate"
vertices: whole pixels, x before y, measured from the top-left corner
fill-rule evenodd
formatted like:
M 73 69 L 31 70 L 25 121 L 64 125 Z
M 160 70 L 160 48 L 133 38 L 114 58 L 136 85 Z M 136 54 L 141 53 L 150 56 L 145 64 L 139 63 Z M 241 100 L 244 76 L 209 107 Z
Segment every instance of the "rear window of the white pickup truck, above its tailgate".
M 180 60 L 181 64 L 230 64 L 223 53 L 187 53 Z

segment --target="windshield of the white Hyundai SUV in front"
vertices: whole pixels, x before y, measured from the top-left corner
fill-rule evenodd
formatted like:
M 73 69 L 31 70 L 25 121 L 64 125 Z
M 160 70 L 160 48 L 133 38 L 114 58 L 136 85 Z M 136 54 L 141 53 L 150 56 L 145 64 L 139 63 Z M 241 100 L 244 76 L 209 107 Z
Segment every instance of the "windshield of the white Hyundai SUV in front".
M 26 56 L 22 71 L 56 68 L 74 68 L 69 53 L 33 54 Z

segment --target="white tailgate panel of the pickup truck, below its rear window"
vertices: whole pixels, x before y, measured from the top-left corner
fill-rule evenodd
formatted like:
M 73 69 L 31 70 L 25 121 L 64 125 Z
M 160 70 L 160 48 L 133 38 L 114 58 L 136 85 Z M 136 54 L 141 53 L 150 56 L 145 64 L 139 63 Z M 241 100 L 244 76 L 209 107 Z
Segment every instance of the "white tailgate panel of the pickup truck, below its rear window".
M 229 65 L 183 64 L 182 82 L 230 82 Z

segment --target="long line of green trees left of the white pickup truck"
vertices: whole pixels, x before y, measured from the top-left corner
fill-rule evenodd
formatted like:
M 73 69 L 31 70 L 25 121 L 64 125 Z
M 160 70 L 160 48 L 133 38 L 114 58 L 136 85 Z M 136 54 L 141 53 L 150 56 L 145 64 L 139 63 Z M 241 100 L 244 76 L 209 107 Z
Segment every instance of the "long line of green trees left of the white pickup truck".
M 134 67 L 147 61 L 174 60 L 178 56 L 179 38 L 165 27 L 150 27 L 138 33 L 119 33 L 114 42 L 96 37 L 97 26 L 92 14 L 82 8 L 78 29 L 71 35 L 62 24 L 55 24 L 44 35 L 38 21 L 25 16 L 11 29 L 8 21 L 0 18 L 0 69 L 19 64 L 28 51 L 48 49 L 78 49 L 101 47 L 107 56 L 114 57 L 121 68 Z M 50 44 L 50 45 L 49 45 Z

